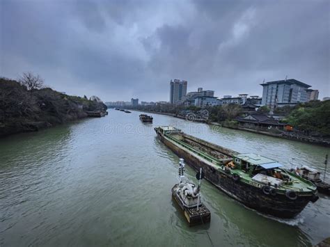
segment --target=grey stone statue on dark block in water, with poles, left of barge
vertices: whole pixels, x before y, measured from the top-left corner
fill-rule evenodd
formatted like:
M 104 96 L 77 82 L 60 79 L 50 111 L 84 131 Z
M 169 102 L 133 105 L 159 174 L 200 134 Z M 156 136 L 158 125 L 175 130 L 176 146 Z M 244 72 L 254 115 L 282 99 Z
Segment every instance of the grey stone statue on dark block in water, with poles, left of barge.
M 201 180 L 204 177 L 202 168 L 196 174 L 198 186 L 191 182 L 184 182 L 184 161 L 179 163 L 179 184 L 172 188 L 172 198 L 178 203 L 189 226 L 200 225 L 211 221 L 210 210 L 201 202 Z

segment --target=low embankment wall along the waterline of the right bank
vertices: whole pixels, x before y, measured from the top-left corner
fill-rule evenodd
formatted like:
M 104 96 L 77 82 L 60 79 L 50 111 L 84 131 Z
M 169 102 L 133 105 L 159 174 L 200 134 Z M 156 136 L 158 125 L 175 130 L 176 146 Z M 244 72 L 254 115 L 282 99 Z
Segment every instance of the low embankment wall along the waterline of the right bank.
M 160 114 L 160 115 L 170 115 L 174 118 L 181 118 L 184 120 L 187 120 L 187 118 L 184 118 L 184 116 L 180 116 L 180 115 L 176 115 L 173 113 L 159 113 L 159 112 L 154 112 L 154 111 L 141 111 L 141 110 L 133 110 L 133 111 L 140 111 L 140 112 L 145 112 L 145 113 L 154 113 L 154 114 Z M 187 120 L 190 121 L 190 120 Z M 196 121 L 196 122 L 202 122 L 202 121 Z M 252 133 L 256 133 L 256 134 L 262 134 L 262 135 L 266 135 L 266 136 L 272 136 L 272 137 L 276 137 L 276 138 L 283 138 L 283 139 L 288 139 L 288 140 L 292 140 L 292 141 L 299 141 L 302 143 L 309 143 L 309 144 L 313 144 L 313 145 L 321 145 L 324 147 L 330 147 L 330 141 L 325 141 L 319 138 L 308 138 L 305 136 L 296 136 L 293 134 L 285 134 L 285 133 L 281 133 L 281 134 L 276 134 L 276 133 L 271 133 L 271 132 L 265 132 L 265 131 L 259 131 L 256 129 L 246 129 L 243 127 L 239 127 L 239 126 L 235 126 L 235 127 L 231 127 L 229 125 L 226 124 L 222 124 L 219 122 L 203 122 L 207 125 L 216 125 L 219 127 L 225 127 L 228 129 L 237 129 L 237 130 L 242 130 L 244 132 L 252 132 Z

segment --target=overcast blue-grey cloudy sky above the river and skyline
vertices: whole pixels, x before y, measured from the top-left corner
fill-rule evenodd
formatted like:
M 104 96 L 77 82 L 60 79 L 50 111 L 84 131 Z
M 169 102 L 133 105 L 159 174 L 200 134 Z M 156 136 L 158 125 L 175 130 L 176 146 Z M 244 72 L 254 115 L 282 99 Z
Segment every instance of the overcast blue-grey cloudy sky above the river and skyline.
M 298 79 L 330 96 L 330 1 L 0 1 L 0 76 L 104 101 L 169 98 L 169 81 L 215 96 Z

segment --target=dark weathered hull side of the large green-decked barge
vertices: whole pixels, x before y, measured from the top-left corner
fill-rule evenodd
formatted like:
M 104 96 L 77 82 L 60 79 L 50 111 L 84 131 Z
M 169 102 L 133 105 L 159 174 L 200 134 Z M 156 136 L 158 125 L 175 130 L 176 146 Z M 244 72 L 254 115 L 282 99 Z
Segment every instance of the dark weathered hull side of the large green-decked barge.
M 214 169 L 202 159 L 194 154 L 180 148 L 161 134 L 157 134 L 160 140 L 170 148 L 178 157 L 184 158 L 189 166 L 198 171 L 203 168 L 205 179 L 214 184 L 219 190 L 242 202 L 246 207 L 256 209 L 264 214 L 269 214 L 279 218 L 293 218 L 297 216 L 304 207 L 311 201 L 311 196 L 299 196 L 296 200 L 288 199 L 285 194 L 276 194 L 275 196 L 265 195 L 262 189 L 255 186 L 246 186 L 240 181 L 235 181 L 230 175 L 221 173 Z M 205 145 L 205 141 L 203 141 Z M 269 200 L 272 197 L 272 200 Z

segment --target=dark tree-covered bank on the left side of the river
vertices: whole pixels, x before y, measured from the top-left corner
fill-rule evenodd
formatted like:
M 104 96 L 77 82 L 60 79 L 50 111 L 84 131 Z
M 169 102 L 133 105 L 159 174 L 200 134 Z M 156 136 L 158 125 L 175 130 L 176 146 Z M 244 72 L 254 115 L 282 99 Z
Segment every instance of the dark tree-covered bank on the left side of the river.
M 59 93 L 51 88 L 27 90 L 10 79 L 0 79 L 0 136 L 33 132 L 86 118 L 86 111 L 106 111 L 95 100 Z

